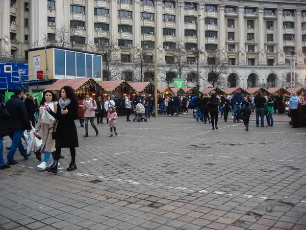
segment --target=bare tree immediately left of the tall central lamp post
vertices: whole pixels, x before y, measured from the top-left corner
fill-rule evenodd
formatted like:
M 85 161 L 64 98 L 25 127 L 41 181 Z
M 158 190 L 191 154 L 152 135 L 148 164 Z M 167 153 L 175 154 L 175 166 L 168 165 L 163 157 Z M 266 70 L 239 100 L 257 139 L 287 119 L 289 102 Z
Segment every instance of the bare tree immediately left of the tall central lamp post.
M 153 56 L 147 55 L 145 50 L 135 52 L 134 81 L 144 82 L 145 73 L 154 71 Z

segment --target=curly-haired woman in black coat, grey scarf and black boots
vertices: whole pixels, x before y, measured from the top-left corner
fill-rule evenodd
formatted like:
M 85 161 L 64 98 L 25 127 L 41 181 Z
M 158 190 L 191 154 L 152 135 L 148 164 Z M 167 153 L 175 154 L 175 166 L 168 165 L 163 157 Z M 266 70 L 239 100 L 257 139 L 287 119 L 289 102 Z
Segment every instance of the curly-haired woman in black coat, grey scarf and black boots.
M 74 90 L 70 86 L 61 88 L 61 98 L 58 103 L 57 113 L 54 113 L 49 108 L 48 112 L 58 120 L 55 132 L 55 160 L 54 164 L 46 168 L 47 172 L 57 173 L 57 167 L 62 148 L 69 148 L 71 162 L 67 171 L 77 169 L 75 164 L 75 148 L 79 147 L 78 132 L 74 120 L 78 119 L 78 102 Z

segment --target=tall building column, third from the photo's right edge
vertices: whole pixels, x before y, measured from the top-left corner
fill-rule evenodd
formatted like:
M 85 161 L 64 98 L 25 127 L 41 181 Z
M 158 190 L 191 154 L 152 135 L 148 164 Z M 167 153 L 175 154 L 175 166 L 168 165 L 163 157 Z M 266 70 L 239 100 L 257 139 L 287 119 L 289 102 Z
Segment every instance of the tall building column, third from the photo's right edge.
M 265 49 L 265 31 L 266 26 L 264 24 L 264 8 L 258 8 L 258 64 L 259 65 L 267 65 L 266 62 L 266 49 Z

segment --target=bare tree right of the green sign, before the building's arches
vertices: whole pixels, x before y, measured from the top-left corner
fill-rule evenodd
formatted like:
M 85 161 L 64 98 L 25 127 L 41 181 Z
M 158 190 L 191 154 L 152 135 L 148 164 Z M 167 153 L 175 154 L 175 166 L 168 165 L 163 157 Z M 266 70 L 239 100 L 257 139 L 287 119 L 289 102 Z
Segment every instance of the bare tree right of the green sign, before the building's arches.
M 212 87 L 226 88 L 227 87 L 227 73 L 228 60 L 220 51 L 207 51 L 206 62 L 201 64 L 205 77 Z

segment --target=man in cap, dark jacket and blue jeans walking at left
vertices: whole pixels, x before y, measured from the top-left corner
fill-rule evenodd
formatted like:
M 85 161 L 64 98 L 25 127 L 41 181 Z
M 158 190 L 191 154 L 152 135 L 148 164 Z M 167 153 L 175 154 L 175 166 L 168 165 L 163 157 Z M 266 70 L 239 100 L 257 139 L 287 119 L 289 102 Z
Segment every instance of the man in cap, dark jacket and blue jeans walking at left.
M 23 95 L 23 90 L 20 87 L 15 87 L 14 97 L 12 97 L 6 103 L 6 109 L 11 114 L 8 124 L 9 128 L 13 130 L 13 142 L 8 153 L 8 165 L 15 165 L 18 163 L 17 160 L 14 160 L 14 154 L 18 148 L 21 155 L 24 159 L 28 159 L 27 150 L 24 149 L 21 136 L 25 129 L 28 131 L 31 130 L 31 121 L 28 116 L 27 109 L 25 108 L 24 103 L 20 100 Z

